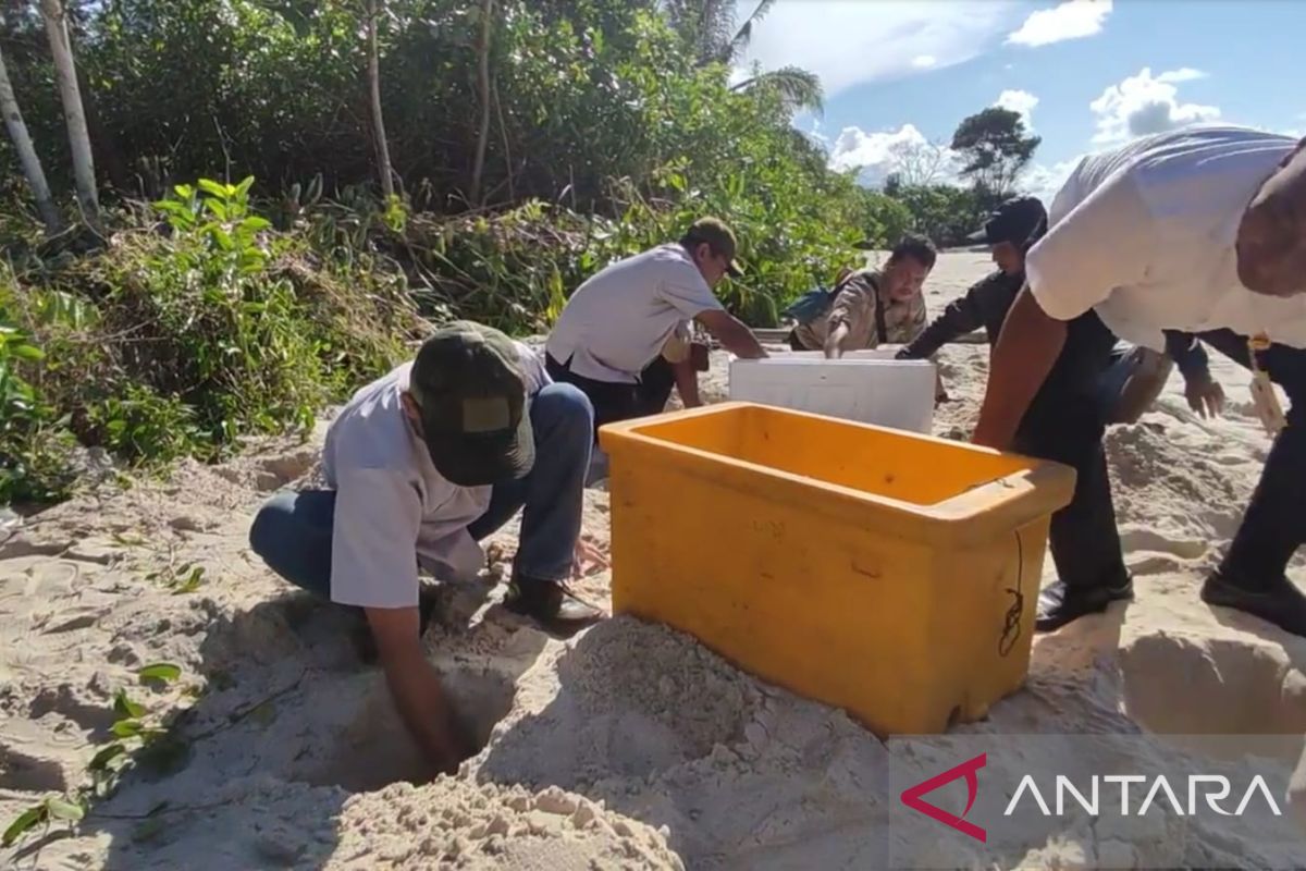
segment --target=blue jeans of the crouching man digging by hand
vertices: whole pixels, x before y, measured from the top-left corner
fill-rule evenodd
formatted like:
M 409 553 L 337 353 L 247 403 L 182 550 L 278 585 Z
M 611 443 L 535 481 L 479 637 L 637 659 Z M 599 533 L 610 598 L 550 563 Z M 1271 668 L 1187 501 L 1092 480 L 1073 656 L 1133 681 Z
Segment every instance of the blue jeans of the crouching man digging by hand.
M 495 484 L 486 513 L 468 526 L 477 541 L 521 511 L 521 541 L 513 573 L 542 581 L 571 573 L 593 445 L 594 410 L 569 384 L 551 384 L 530 402 L 535 465 L 520 481 Z M 336 491 L 282 491 L 249 528 L 249 547 L 295 586 L 330 598 L 330 537 Z M 417 552 L 414 551 L 414 559 Z

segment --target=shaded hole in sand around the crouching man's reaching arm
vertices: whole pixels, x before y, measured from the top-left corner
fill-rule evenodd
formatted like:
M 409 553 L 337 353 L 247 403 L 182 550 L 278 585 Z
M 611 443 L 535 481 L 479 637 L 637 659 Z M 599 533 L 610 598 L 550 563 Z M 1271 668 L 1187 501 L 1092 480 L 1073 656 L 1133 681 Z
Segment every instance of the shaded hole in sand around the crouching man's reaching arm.
M 503 675 L 460 666 L 444 669 L 440 682 L 470 736 L 474 756 L 490 742 L 495 725 L 512 709 L 515 688 Z M 321 763 L 303 780 L 315 786 L 341 786 L 370 793 L 400 781 L 428 781 L 434 772 L 394 709 L 380 674 L 370 692 L 357 696 L 349 725 L 320 753 Z

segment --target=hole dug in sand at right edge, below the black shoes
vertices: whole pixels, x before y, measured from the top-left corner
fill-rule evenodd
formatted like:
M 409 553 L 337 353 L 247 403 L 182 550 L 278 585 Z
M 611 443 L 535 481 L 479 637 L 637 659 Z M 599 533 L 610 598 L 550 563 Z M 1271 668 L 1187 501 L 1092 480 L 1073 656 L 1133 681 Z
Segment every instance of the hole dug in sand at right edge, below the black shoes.
M 1149 635 L 1122 648 L 1121 673 L 1126 713 L 1183 750 L 1301 756 L 1306 675 L 1276 644 Z

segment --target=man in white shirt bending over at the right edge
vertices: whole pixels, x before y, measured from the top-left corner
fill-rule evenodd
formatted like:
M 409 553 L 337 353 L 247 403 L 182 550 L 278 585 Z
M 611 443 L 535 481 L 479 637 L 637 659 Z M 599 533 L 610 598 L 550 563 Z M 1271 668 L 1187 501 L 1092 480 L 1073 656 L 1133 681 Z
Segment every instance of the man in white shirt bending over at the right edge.
M 1007 448 L 1066 341 L 1096 311 L 1117 336 L 1164 350 L 1194 333 L 1292 398 L 1242 525 L 1202 597 L 1306 635 L 1306 595 L 1285 569 L 1306 541 L 1306 151 L 1235 127 L 1160 133 L 1084 158 L 1057 195 L 1027 257 L 1027 285 L 994 349 L 973 440 Z M 1109 504 L 1109 498 L 1107 498 Z M 1038 628 L 1102 611 L 1131 590 L 1058 581 Z

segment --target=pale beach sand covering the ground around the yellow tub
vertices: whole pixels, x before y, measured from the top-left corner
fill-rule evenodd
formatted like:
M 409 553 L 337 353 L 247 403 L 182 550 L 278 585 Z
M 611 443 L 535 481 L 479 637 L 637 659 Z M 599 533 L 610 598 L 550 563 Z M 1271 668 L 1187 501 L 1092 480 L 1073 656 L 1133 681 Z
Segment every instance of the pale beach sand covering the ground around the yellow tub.
M 943 256 L 931 311 L 986 268 L 980 255 Z M 982 346 L 944 351 L 953 402 L 938 434 L 969 431 L 986 359 Z M 1269 757 L 1218 764 L 1286 772 L 1302 759 L 1306 641 L 1198 599 L 1268 448 L 1246 373 L 1212 359 L 1226 419 L 1196 419 L 1175 373 L 1140 423 L 1107 436 L 1136 602 L 1041 636 L 1028 687 L 959 734 L 1281 733 Z M 716 360 L 709 398 L 722 385 Z M 445 588 L 426 639 L 488 744 L 457 777 L 396 784 L 421 767 L 381 673 L 359 663 L 357 623 L 291 592 L 247 548 L 259 501 L 311 477 L 315 458 L 312 445 L 268 445 L 226 467 L 187 465 L 167 483 L 80 498 L 8 539 L 0 526 L 0 824 L 85 782 L 120 687 L 151 712 L 184 710 L 176 731 L 188 743 L 179 770 L 129 776 L 77 834 L 56 824 L 0 853 L 0 866 L 880 867 L 892 742 L 661 627 L 622 618 L 569 641 L 541 633 L 498 605 L 503 558 L 485 584 Z M 586 531 L 603 546 L 606 512 L 606 494 L 590 492 Z M 513 529 L 499 541 L 511 555 Z M 146 580 L 184 563 L 205 568 L 192 593 Z M 605 597 L 606 578 L 585 589 Z M 155 661 L 183 666 L 182 680 L 137 686 L 135 670 Z M 1182 750 L 1207 769 L 1218 755 L 1161 736 L 1139 747 L 1139 765 Z M 1070 746 L 1066 756 L 1074 768 Z M 1179 845 L 1164 825 L 1032 832 L 1006 864 L 1130 867 L 1179 850 L 1190 866 L 1286 867 L 1293 854 L 1272 844 L 1281 834 L 1198 831 Z

